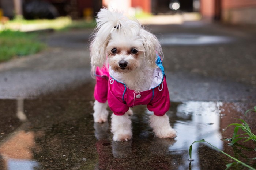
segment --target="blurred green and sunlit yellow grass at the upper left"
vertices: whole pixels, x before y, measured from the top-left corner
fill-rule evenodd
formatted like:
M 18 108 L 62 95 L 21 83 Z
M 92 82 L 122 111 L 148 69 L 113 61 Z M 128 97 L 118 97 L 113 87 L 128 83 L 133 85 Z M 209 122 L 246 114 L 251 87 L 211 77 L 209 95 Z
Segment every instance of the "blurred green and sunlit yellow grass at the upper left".
M 39 34 L 26 33 L 27 31 L 42 29 L 69 31 L 71 29 L 92 29 L 95 26 L 95 20 L 73 21 L 70 17 L 59 17 L 52 20 L 25 20 L 22 18 L 10 20 L 5 25 L 0 25 L 0 62 L 35 54 L 45 49 L 46 45 L 37 38 Z

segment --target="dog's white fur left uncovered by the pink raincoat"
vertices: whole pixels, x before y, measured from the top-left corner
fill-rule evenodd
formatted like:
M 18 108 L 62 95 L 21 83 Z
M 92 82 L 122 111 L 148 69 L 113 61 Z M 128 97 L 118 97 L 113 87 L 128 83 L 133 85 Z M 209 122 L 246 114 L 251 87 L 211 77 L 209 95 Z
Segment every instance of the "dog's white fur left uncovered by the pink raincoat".
M 136 92 L 150 89 L 153 71 L 157 67 L 157 54 L 162 58 L 162 48 L 157 38 L 141 27 L 136 20 L 130 20 L 121 12 L 110 12 L 101 9 L 97 15 L 97 27 L 90 45 L 92 72 L 95 66 L 103 67 L 109 64 L 110 71 Z M 115 49 L 115 52 L 113 52 Z M 134 49 L 138 52 L 134 53 Z M 127 62 L 121 67 L 120 62 Z M 127 141 L 132 137 L 129 110 L 123 116 L 112 115 L 112 133 L 114 141 Z M 94 121 L 106 122 L 108 111 L 106 103 L 94 103 Z M 154 133 L 160 138 L 175 137 L 175 131 L 170 127 L 168 117 L 152 116 L 150 124 Z M 159 122 L 158 122 L 159 120 Z

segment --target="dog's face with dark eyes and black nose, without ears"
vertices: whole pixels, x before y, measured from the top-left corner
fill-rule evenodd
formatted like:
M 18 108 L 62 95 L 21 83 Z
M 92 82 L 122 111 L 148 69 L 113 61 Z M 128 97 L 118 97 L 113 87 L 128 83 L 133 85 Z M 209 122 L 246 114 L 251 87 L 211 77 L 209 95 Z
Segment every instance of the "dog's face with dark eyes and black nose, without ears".
M 109 66 L 116 72 L 131 72 L 145 62 L 145 48 L 138 36 L 113 33 L 106 47 Z

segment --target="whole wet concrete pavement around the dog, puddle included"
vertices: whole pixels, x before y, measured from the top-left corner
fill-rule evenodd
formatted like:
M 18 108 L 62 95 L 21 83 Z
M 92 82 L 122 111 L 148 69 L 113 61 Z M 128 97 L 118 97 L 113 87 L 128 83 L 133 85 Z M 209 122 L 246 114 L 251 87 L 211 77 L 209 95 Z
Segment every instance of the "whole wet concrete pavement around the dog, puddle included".
M 256 132 L 256 31 L 200 21 L 148 25 L 162 43 L 175 139 L 154 137 L 146 107 L 133 108 L 133 138 L 112 141 L 110 119 L 93 122 L 90 30 L 42 36 L 49 50 L 0 64 L 0 169 L 225 169 L 233 162 L 205 139 L 256 166 L 255 143 L 229 146 L 230 123 Z M 109 111 L 110 112 L 110 111 Z M 110 117 L 109 117 L 110 118 Z M 236 165 L 237 169 L 242 169 Z

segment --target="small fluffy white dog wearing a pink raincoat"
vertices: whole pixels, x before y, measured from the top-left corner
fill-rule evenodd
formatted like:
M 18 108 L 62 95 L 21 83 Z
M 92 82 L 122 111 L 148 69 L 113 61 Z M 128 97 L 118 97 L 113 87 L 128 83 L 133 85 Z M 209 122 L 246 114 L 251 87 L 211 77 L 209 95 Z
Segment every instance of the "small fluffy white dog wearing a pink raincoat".
M 147 105 L 153 111 L 150 126 L 159 138 L 174 138 L 176 132 L 165 113 L 170 99 L 162 66 L 162 48 L 157 38 L 136 20 L 121 12 L 101 9 L 90 44 L 94 89 L 94 122 L 107 121 L 113 111 L 111 131 L 114 141 L 132 137 L 129 109 Z

